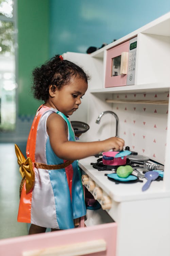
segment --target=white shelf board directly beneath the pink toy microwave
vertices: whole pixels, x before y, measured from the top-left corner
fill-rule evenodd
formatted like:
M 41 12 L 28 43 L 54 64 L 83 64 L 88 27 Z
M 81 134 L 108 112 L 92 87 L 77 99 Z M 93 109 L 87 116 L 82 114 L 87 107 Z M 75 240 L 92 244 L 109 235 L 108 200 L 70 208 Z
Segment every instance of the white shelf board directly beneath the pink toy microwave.
M 162 84 L 139 84 L 126 85 L 109 88 L 95 88 L 91 89 L 90 93 L 145 93 L 145 92 L 167 92 L 169 91 L 170 83 Z

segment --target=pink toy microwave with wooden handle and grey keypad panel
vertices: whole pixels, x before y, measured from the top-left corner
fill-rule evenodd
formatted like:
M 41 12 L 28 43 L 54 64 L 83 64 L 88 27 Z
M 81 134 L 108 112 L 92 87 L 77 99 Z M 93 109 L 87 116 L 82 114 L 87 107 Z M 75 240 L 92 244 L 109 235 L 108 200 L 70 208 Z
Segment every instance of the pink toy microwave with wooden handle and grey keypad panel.
M 106 51 L 105 87 L 134 85 L 137 37 Z

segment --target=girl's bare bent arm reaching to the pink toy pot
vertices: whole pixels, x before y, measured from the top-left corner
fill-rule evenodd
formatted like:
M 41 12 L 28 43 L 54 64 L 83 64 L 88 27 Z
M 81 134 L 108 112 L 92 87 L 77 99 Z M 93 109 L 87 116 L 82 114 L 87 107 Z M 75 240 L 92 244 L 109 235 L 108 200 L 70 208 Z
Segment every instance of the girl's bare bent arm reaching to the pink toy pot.
M 60 115 L 55 113 L 47 119 L 47 132 L 54 153 L 67 160 L 82 159 L 111 149 L 120 151 L 124 146 L 124 140 L 116 137 L 94 142 L 68 141 L 66 123 Z

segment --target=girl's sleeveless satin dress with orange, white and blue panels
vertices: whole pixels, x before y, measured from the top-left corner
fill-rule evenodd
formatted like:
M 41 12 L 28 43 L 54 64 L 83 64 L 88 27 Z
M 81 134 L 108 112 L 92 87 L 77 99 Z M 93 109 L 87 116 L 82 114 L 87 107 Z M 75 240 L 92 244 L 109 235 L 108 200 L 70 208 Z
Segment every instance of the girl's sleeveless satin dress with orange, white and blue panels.
M 68 140 L 75 141 L 68 118 L 56 109 L 41 105 L 33 120 L 26 148 L 27 157 L 30 157 L 33 163 L 58 165 L 66 161 L 57 157 L 50 145 L 46 122 L 52 113 L 63 117 L 68 126 Z M 23 184 L 18 222 L 56 229 L 74 228 L 73 219 L 86 214 L 78 161 L 75 160 L 59 170 L 45 170 L 35 168 L 34 165 L 33 169 L 34 187 L 26 194 Z

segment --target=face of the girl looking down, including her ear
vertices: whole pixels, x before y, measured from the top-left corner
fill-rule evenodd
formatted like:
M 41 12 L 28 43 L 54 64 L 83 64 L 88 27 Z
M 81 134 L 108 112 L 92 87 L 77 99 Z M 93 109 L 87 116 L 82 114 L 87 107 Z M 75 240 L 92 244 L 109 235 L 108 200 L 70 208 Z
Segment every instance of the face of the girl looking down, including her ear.
M 51 106 L 66 116 L 72 115 L 79 108 L 87 87 L 87 83 L 82 78 L 75 76 L 71 78 L 69 84 L 64 85 L 60 90 L 56 88 L 55 91 L 50 91 L 49 89 Z

